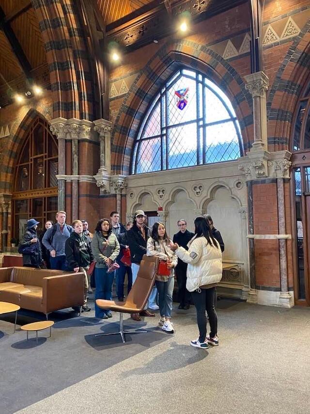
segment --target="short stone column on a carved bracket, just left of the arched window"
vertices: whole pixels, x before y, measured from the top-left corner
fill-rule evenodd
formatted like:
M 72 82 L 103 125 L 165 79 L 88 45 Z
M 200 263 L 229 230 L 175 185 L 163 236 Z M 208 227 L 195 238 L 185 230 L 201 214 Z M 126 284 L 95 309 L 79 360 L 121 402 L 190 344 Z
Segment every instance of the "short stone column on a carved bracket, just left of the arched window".
M 93 129 L 98 132 L 100 140 L 100 168 L 93 177 L 100 188 L 100 194 L 107 194 L 110 192 L 111 122 L 106 119 L 96 119 L 93 124 Z

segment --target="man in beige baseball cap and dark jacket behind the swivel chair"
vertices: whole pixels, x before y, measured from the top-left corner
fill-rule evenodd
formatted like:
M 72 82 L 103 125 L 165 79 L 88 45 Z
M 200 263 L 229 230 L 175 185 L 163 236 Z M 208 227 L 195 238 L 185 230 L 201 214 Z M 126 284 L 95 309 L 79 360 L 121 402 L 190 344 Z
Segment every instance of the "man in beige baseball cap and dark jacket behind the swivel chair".
M 151 230 L 145 225 L 145 214 L 143 210 L 137 210 L 134 214 L 134 224 L 127 232 L 128 246 L 131 256 L 131 270 L 132 270 L 132 283 L 134 284 L 138 276 L 140 263 L 143 254 L 146 254 L 147 239 L 151 236 Z M 152 295 L 153 292 L 151 292 Z M 144 311 L 140 313 L 142 316 L 155 316 L 154 313 L 147 310 L 147 306 Z M 139 314 L 131 314 L 131 318 L 134 320 L 141 320 Z

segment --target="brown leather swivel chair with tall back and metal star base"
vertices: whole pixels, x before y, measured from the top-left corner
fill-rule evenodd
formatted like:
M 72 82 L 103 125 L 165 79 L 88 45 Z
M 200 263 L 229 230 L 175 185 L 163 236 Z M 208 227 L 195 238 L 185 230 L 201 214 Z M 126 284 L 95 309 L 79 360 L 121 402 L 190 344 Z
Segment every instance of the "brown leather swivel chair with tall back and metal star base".
M 99 308 L 116 311 L 120 313 L 120 330 L 111 333 L 97 333 L 95 336 L 105 335 L 117 335 L 120 334 L 125 342 L 125 333 L 145 333 L 147 331 L 124 331 L 123 314 L 135 314 L 142 312 L 147 299 L 150 296 L 152 288 L 157 276 L 157 270 L 159 265 L 159 258 L 157 256 L 148 257 L 143 256 L 138 277 L 134 282 L 129 295 L 124 302 L 118 302 L 114 300 L 96 299 L 96 304 Z

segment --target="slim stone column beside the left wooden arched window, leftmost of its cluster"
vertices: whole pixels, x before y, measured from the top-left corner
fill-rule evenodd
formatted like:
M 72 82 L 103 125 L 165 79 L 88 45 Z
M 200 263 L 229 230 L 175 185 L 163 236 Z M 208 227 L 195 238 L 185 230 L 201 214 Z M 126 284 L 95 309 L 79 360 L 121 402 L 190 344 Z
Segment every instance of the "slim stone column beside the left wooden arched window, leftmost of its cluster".
M 58 175 L 63 177 L 66 173 L 66 122 L 64 118 L 51 120 L 49 129 L 58 139 Z M 65 180 L 58 178 L 58 210 L 65 209 Z

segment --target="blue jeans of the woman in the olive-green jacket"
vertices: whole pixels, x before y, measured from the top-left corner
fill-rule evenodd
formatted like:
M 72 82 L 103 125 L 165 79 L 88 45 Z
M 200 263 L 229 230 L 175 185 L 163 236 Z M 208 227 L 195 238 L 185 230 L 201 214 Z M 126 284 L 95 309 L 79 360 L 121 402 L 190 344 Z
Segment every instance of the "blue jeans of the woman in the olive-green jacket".
M 96 290 L 95 290 L 95 299 L 107 299 L 112 300 L 112 285 L 115 277 L 115 271 L 107 273 L 107 268 L 95 267 L 95 281 L 96 281 Z M 97 318 L 102 318 L 109 311 L 99 308 L 95 300 L 95 316 Z

